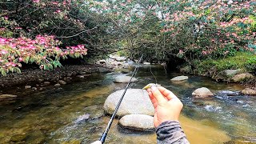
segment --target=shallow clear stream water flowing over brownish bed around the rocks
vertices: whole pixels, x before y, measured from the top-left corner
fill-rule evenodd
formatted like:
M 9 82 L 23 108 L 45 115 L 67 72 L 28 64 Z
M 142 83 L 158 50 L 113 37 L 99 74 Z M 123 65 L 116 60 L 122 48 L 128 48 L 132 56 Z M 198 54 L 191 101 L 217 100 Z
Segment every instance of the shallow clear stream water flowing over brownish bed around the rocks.
M 191 97 L 193 90 L 202 86 L 214 93 L 242 90 L 242 86 L 192 75 L 186 82 L 170 82 L 179 74 L 166 74 L 161 66 L 152 67 L 152 72 L 159 84 L 184 103 L 180 122 L 191 143 L 256 143 L 256 97 Z M 113 82 L 119 74 L 93 74 L 56 90 L 21 94 L 13 101 L 0 102 L 0 143 L 94 142 L 110 120 L 103 111 L 106 97 L 126 86 Z M 137 78 L 133 88 L 155 82 L 149 67 L 140 68 Z M 156 143 L 156 134 L 123 130 L 115 119 L 106 143 Z

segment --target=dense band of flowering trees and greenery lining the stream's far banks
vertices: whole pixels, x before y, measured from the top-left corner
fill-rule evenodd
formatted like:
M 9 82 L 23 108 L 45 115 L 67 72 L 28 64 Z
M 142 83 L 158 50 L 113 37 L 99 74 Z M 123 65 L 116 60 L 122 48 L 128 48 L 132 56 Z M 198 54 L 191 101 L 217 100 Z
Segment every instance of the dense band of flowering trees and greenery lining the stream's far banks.
M 60 66 L 59 58 L 66 55 L 94 58 L 118 50 L 130 58 L 144 53 L 147 61 L 181 59 L 192 68 L 206 66 L 205 70 L 215 64 L 218 70 L 255 70 L 254 1 L 10 0 L 1 1 L 0 8 L 2 74 L 19 71 L 21 59 L 48 70 Z M 53 43 L 46 46 L 37 42 L 38 37 Z M 15 43 L 20 39 L 32 41 L 36 48 L 25 49 L 33 57 L 20 52 L 22 45 Z M 239 58 L 247 54 L 250 58 L 241 64 Z M 226 60 L 218 62 L 222 58 Z

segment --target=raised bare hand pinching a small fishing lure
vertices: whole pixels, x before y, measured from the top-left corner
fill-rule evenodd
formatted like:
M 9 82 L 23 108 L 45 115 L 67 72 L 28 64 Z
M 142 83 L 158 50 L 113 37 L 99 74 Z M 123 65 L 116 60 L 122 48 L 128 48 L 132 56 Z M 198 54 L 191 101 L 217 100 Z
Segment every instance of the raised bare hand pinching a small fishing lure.
M 147 92 L 154 106 L 155 127 L 158 127 L 162 122 L 178 121 L 183 104 L 175 94 L 162 86 L 151 86 Z

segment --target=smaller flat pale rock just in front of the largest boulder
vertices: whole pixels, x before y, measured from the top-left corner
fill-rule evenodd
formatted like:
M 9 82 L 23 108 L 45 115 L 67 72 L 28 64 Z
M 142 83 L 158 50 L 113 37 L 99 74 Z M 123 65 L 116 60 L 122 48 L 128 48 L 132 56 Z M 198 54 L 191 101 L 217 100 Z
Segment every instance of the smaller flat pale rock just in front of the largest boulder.
M 119 125 L 132 130 L 154 131 L 154 118 L 145 114 L 129 114 L 119 120 Z

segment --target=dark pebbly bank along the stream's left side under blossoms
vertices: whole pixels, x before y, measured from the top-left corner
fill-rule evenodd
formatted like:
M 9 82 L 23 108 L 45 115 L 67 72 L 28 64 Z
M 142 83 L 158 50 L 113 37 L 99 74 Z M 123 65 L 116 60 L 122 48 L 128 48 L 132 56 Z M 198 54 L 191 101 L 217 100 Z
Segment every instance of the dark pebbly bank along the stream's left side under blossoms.
M 84 78 L 92 73 L 110 72 L 110 68 L 101 65 L 66 65 L 54 70 L 27 69 L 22 70 L 22 74 L 7 74 L 6 77 L 0 76 L 0 87 L 21 86 L 28 88 L 30 85 L 37 86 L 40 83 L 64 83 L 73 77 Z M 60 81 L 62 80 L 62 81 Z M 64 82 L 63 82 L 64 81 Z M 62 84 L 60 83 L 60 84 Z

